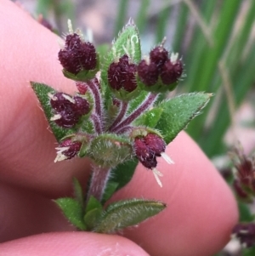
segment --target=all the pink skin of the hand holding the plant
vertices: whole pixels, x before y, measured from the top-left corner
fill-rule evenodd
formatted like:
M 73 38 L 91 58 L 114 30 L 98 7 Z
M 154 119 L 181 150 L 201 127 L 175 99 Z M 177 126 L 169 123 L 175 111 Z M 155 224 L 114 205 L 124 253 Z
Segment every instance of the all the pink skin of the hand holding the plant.
M 90 163 L 78 158 L 54 163 L 56 141 L 29 84 L 44 82 L 66 93 L 75 91 L 74 83 L 62 75 L 58 40 L 14 3 L 0 0 L 1 255 L 207 256 L 218 252 L 238 219 L 235 199 L 212 163 L 184 133 L 167 146 L 175 163 L 159 160 L 162 188 L 139 165 L 132 181 L 111 198 L 161 200 L 167 203 L 166 210 L 124 230 L 122 236 L 75 232 L 67 223 L 51 200 L 71 196 L 74 176 L 85 185 Z

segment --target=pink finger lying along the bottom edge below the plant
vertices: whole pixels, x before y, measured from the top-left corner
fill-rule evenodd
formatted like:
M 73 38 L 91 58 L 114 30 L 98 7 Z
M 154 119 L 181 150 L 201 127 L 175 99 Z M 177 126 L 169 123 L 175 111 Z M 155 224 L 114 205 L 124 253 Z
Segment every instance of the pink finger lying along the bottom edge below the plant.
M 2 255 L 26 256 L 148 256 L 137 244 L 122 236 L 88 232 L 48 233 L 28 236 L 0 245 Z

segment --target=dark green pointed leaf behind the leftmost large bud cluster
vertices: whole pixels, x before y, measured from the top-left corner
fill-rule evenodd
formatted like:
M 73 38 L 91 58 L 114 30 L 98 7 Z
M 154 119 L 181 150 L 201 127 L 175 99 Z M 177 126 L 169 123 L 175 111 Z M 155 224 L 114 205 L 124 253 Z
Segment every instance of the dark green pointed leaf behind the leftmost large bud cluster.
M 42 110 L 48 120 L 49 126 L 57 139 L 59 141 L 63 137 L 68 134 L 72 134 L 72 129 L 60 128 L 55 122 L 50 121 L 50 118 L 53 117 L 51 105 L 49 105 L 48 94 L 55 94 L 56 91 L 54 88 L 49 87 L 47 84 L 39 83 L 39 82 L 31 82 L 31 88 L 34 90 L 35 94 L 37 94 L 37 98 L 42 105 Z

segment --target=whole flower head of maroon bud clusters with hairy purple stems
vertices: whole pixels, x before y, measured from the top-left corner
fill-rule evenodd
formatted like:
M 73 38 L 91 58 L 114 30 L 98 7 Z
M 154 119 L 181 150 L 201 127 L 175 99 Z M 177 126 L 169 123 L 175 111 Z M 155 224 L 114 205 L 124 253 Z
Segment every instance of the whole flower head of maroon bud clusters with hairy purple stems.
M 130 45 L 132 47 L 132 43 Z M 106 103 L 110 105 L 107 112 L 108 119 L 106 120 L 103 115 L 104 96 L 100 88 L 100 78 L 96 77 L 94 72 L 97 71 L 96 67 L 99 65 L 94 45 L 84 42 L 78 31 L 72 31 L 70 24 L 70 34 L 65 37 L 65 48 L 59 51 L 59 61 L 64 68 L 65 77 L 76 81 L 80 96 L 71 97 L 64 93 L 50 95 L 50 105 L 54 110 L 54 117 L 51 120 L 62 128 L 74 128 L 82 115 L 86 115 L 91 111 L 91 118 L 89 118 L 94 126 L 92 128 L 94 129 L 94 139 L 104 133 L 123 135 L 123 138 L 125 136 L 128 137 L 127 132 L 131 131 L 132 133 L 133 130 L 133 121 L 141 116 L 144 111 L 148 111 L 150 106 L 154 105 L 157 93 L 173 89 L 169 85 L 178 82 L 183 73 L 183 65 L 178 60 L 178 55 L 172 54 L 169 56 L 167 49 L 162 44 L 150 51 L 148 60 L 141 61 L 135 59 L 133 54 L 135 50 L 133 48 L 132 50 L 127 48 L 125 48 L 125 53 L 122 52 L 122 54 L 114 51 L 114 61 L 111 59 L 113 62 L 104 72 L 102 71 L 102 80 L 106 80 L 103 81 L 103 85 L 105 86 L 105 83 L 107 83 L 112 92 L 111 103 Z M 74 76 L 70 77 L 69 74 L 66 76 L 65 71 Z M 80 75 L 83 71 L 93 72 L 91 76 L 82 77 Z M 162 86 L 164 87 L 163 90 L 161 89 Z M 151 90 L 147 89 L 152 93 L 148 94 L 135 111 L 127 115 L 129 100 L 135 99 L 144 87 L 152 88 Z M 81 97 L 87 94 L 88 91 L 86 99 L 89 99 L 91 106 L 88 100 L 84 99 L 85 96 L 84 98 Z M 92 100 L 90 101 L 90 99 Z M 92 102 L 94 105 L 92 105 Z M 112 122 L 111 117 L 115 118 Z M 105 125 L 105 122 L 109 121 L 109 125 Z M 161 174 L 156 170 L 156 157 L 163 156 L 168 163 L 173 163 L 164 153 L 166 149 L 165 141 L 153 131 L 145 131 L 143 135 L 134 135 L 130 136 L 130 138 L 132 138 L 133 145 L 131 143 L 129 146 L 130 148 L 133 147 L 134 155 L 145 168 L 153 170 L 158 183 L 160 183 L 157 176 Z M 130 138 L 128 137 L 127 139 Z M 91 146 L 94 145 L 93 141 L 89 145 L 90 150 L 92 150 Z M 109 143 L 105 142 L 105 145 L 109 145 Z M 71 139 L 65 140 L 57 148 L 57 161 L 71 159 L 77 155 L 80 148 L 81 144 L 77 140 L 74 142 Z M 123 156 L 123 159 L 125 157 Z M 130 157 L 132 157 L 131 153 Z

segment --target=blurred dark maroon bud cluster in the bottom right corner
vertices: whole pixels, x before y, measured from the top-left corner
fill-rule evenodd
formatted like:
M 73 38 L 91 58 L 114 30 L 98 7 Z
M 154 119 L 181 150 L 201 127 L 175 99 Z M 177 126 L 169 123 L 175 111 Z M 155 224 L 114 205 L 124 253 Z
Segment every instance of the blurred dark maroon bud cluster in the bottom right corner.
M 244 247 L 255 245 L 255 223 L 240 223 L 235 225 L 232 233 L 240 240 Z

